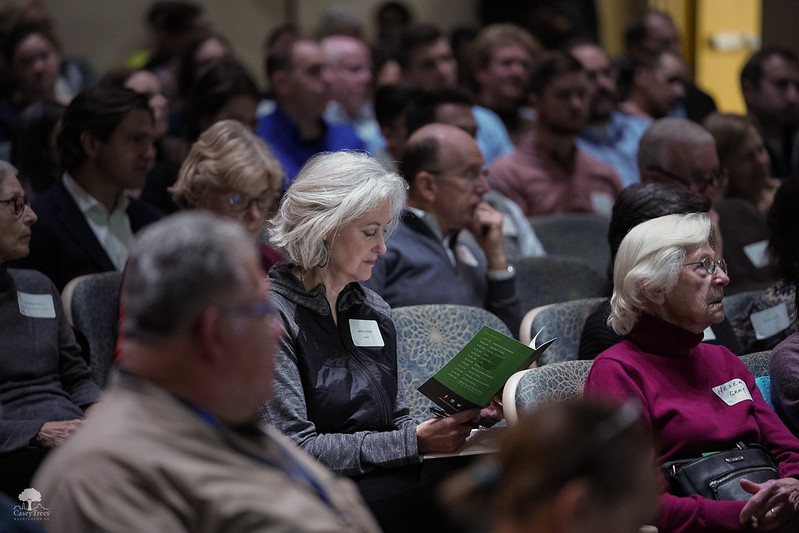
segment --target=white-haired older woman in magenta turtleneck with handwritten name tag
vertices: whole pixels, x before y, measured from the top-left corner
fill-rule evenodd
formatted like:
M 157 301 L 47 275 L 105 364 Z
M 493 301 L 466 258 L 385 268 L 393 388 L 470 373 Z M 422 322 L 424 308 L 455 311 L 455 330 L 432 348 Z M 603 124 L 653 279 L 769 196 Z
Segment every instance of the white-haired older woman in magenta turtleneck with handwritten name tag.
M 659 463 L 739 442 L 762 445 L 778 462 L 778 479 L 740 481 L 748 502 L 664 492 L 656 522 L 661 533 L 796 531 L 799 440 L 738 357 L 701 343 L 705 328 L 724 319 L 729 282 L 713 244 L 705 214 L 667 215 L 627 234 L 616 255 L 610 316 L 624 338 L 594 360 L 585 394 L 637 400 Z

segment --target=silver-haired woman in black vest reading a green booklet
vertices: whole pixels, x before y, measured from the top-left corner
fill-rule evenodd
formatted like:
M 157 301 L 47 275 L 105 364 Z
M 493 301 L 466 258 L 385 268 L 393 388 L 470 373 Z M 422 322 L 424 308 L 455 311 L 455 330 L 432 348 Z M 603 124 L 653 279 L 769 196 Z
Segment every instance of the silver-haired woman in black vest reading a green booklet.
M 286 334 L 264 416 L 326 466 L 354 477 L 386 530 L 414 518 L 399 494 L 419 505 L 430 499 L 419 487 L 421 455 L 457 449 L 478 415 L 417 425 L 398 385 L 391 310 L 359 283 L 386 251 L 406 187 L 366 154 L 323 153 L 300 170 L 271 221 L 272 243 L 289 262 L 269 273 Z

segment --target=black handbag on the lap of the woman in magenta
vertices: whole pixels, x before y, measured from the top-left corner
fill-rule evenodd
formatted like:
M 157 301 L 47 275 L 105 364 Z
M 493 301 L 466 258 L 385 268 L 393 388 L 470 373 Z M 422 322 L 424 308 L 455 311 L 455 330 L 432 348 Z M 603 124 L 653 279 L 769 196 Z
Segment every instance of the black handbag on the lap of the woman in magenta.
M 743 442 L 732 450 L 669 461 L 661 468 L 669 481 L 671 494 L 698 494 L 710 500 L 745 501 L 752 495 L 741 488 L 739 479 L 763 483 L 780 477 L 768 450 L 759 444 Z

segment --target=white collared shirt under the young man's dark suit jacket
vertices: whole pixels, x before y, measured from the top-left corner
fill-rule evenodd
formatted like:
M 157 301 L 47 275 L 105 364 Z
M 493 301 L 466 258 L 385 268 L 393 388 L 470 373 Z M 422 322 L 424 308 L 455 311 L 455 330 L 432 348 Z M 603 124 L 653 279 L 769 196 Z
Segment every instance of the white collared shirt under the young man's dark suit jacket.
M 78 185 L 69 173 L 64 173 L 63 181 L 64 187 L 78 204 L 78 209 L 83 213 L 100 246 L 108 254 L 116 269 L 121 271 L 128 260 L 128 247 L 133 240 L 133 230 L 126 211 L 130 203 L 128 197 L 120 194 L 116 208 L 109 213 L 105 206 Z

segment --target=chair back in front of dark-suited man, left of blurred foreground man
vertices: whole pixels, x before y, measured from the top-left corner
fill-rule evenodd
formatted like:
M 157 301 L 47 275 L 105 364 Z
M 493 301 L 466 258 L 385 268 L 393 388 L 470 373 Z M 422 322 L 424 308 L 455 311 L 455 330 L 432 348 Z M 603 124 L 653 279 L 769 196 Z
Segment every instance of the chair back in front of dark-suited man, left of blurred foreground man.
M 67 283 L 61 294 L 67 320 L 88 341 L 89 366 L 101 387 L 114 364 L 121 284 L 121 272 L 89 274 Z

